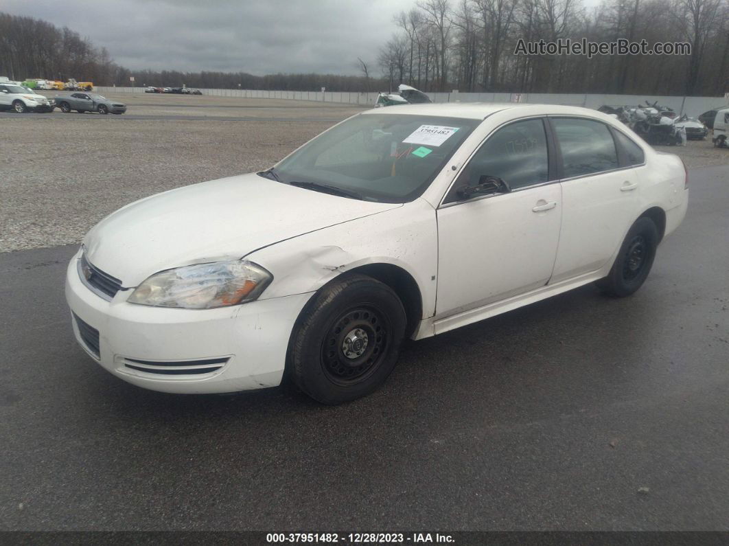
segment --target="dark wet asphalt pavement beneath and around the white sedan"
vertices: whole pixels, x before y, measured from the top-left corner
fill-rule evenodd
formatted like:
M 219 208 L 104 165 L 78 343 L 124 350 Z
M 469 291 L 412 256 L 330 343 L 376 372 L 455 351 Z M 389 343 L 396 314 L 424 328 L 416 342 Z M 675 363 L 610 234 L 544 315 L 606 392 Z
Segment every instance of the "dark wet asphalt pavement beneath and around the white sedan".
M 0 530 L 729 530 L 729 167 L 647 284 L 408 343 L 340 407 L 145 391 L 77 347 L 76 246 L 0 254 Z

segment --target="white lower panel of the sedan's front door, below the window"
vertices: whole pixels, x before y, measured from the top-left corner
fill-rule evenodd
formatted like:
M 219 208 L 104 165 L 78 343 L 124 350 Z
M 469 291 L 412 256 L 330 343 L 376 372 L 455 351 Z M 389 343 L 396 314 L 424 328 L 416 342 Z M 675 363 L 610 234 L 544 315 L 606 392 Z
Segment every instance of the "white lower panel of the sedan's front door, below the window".
M 436 319 L 547 284 L 561 209 L 560 184 L 440 208 Z

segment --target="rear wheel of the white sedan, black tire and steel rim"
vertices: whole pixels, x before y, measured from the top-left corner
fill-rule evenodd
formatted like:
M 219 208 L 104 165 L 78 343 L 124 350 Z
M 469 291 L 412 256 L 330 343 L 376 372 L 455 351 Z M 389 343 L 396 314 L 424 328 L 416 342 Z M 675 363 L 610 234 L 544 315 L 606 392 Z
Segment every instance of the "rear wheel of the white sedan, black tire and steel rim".
M 636 220 L 617 254 L 615 263 L 607 277 L 597 285 L 608 295 L 625 297 L 634 294 L 650 273 L 658 248 L 658 227 L 652 219 L 642 217 Z

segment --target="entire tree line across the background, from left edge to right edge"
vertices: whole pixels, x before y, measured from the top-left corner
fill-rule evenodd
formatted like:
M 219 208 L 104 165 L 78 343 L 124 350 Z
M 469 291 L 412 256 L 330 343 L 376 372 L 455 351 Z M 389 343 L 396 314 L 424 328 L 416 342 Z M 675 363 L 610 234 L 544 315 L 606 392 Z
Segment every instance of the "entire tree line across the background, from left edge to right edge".
M 130 70 L 69 28 L 0 12 L 0 75 L 95 85 L 380 91 L 722 95 L 729 91 L 729 0 L 417 0 L 394 16 L 361 75 Z M 687 42 L 690 55 L 515 55 L 519 40 Z

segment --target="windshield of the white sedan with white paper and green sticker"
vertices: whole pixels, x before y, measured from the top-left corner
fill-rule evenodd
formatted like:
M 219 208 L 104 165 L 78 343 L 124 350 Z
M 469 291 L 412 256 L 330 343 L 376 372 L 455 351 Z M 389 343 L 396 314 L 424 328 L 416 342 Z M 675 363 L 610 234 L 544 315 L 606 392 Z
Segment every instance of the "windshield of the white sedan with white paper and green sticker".
M 360 114 L 276 165 L 284 183 L 325 184 L 366 200 L 418 198 L 480 123 L 457 117 Z

